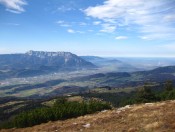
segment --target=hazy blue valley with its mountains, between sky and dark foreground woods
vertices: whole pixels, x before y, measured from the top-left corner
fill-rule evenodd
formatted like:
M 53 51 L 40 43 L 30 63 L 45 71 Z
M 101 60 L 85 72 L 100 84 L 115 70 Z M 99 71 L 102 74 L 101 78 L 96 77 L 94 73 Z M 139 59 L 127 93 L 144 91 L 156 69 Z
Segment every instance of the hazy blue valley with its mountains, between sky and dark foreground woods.
M 174 58 L 103 58 L 29 51 L 0 55 L 0 62 L 2 97 L 64 95 L 99 87 L 135 89 L 145 82 L 160 85 L 175 78 Z

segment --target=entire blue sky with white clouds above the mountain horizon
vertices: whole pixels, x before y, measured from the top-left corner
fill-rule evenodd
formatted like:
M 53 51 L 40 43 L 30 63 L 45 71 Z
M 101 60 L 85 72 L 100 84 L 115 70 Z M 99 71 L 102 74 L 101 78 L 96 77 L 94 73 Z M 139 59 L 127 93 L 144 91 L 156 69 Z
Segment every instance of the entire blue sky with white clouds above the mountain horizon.
M 0 0 L 0 54 L 175 57 L 175 0 Z

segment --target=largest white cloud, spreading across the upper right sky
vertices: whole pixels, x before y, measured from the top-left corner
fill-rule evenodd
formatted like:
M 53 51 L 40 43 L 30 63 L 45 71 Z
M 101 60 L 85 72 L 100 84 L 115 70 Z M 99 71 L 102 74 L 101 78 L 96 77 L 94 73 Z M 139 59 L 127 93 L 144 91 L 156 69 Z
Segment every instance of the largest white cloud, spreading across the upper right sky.
M 169 39 L 175 36 L 174 3 L 175 0 L 106 0 L 102 5 L 88 7 L 84 13 L 113 27 L 110 32 L 116 27 L 134 25 L 143 38 L 157 39 L 160 35 L 161 39 Z M 106 31 L 104 25 L 102 28 Z

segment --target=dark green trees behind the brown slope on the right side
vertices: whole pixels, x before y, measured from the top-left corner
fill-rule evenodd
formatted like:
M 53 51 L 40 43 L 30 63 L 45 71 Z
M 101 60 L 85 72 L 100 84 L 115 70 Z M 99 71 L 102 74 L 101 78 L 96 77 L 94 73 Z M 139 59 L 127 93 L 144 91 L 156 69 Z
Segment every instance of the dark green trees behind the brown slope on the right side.
M 145 83 L 142 87 L 128 93 L 87 93 L 81 94 L 81 96 L 86 98 L 100 98 L 110 102 L 114 107 L 175 99 L 175 88 L 173 86 L 173 81 L 171 80 L 164 83 L 163 90 L 156 91 L 153 89 L 154 88 L 150 86 L 149 83 Z

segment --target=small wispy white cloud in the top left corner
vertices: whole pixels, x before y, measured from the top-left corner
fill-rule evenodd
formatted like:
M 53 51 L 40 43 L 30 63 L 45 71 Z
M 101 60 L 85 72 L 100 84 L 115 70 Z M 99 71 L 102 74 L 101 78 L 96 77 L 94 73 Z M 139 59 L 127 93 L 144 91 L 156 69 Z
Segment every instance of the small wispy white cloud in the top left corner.
M 0 0 L 0 4 L 6 7 L 6 10 L 12 13 L 21 13 L 24 12 L 24 5 L 27 5 L 27 2 L 24 0 Z

